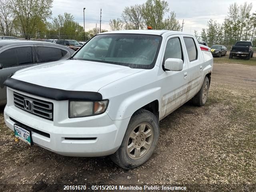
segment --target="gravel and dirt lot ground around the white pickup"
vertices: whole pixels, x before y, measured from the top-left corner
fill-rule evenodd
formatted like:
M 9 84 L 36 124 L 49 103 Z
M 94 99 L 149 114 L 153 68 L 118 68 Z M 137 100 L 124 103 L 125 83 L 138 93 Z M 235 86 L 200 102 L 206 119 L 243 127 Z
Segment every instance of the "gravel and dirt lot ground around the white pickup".
M 243 72 L 242 65 L 234 66 Z M 134 170 L 122 170 L 108 157 L 65 157 L 15 143 L 0 108 L 0 192 L 62 191 L 64 184 L 180 184 L 191 191 L 256 191 L 256 86 L 251 86 L 256 81 L 232 84 L 225 79 L 230 68 L 220 67 L 226 74 L 218 74 L 218 80 L 213 74 L 206 105 L 188 102 L 164 118 L 152 158 Z M 256 80 L 256 67 L 251 68 Z

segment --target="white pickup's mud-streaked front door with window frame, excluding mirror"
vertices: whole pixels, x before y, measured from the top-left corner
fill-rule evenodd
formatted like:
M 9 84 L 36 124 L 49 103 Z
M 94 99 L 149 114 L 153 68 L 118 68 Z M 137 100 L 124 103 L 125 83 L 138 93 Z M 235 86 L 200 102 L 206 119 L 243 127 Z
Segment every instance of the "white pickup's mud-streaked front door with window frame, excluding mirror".
M 159 118 L 162 119 L 186 101 L 187 62 L 184 58 L 185 47 L 180 35 L 169 36 L 166 40 L 162 64 L 168 58 L 183 60 L 182 71 L 165 71 L 160 75 L 162 79 L 162 98 Z M 162 67 L 161 67 L 162 68 Z M 162 69 L 160 69 L 162 70 Z

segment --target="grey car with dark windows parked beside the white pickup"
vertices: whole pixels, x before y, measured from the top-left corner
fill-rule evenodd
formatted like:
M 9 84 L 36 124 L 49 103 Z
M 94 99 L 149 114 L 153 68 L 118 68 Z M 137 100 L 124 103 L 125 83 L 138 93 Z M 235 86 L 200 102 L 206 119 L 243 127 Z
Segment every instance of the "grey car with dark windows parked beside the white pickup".
M 74 50 L 40 41 L 0 41 L 0 105 L 6 104 L 4 81 L 16 71 L 46 62 L 66 60 Z

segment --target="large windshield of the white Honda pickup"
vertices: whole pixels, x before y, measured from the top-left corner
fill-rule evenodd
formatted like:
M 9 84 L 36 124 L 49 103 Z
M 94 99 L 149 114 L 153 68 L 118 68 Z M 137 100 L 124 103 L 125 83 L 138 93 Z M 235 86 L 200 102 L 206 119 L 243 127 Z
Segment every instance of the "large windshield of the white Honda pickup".
M 156 35 L 102 34 L 88 41 L 74 58 L 151 69 L 161 41 L 162 37 Z

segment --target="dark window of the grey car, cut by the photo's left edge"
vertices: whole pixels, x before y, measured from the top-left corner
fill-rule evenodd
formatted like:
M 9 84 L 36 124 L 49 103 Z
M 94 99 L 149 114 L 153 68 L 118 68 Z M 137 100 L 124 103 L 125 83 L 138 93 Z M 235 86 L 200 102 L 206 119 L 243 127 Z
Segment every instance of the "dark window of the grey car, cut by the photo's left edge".
M 32 64 L 32 48 L 18 47 L 6 50 L 0 54 L 0 63 L 2 64 L 3 68 Z

